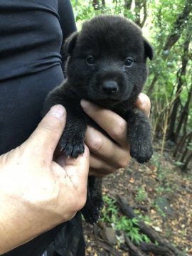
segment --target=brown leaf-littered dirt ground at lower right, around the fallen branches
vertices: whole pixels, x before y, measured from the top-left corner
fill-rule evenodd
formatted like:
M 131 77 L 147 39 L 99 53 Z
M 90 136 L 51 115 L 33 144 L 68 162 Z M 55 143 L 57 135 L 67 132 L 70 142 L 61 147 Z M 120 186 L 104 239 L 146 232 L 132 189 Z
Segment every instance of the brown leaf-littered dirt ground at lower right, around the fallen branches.
M 147 224 L 161 237 L 192 255 L 191 174 L 190 170 L 182 174 L 169 152 L 160 159 L 156 151 L 148 164 L 132 161 L 126 169 L 104 178 L 103 194 L 112 198 L 124 196 L 132 208 L 148 217 Z M 139 193 L 141 188 L 144 196 Z M 105 223 L 94 226 L 85 223 L 86 255 L 129 255 L 126 246 L 115 242 L 112 245 L 100 235 L 102 225 Z

